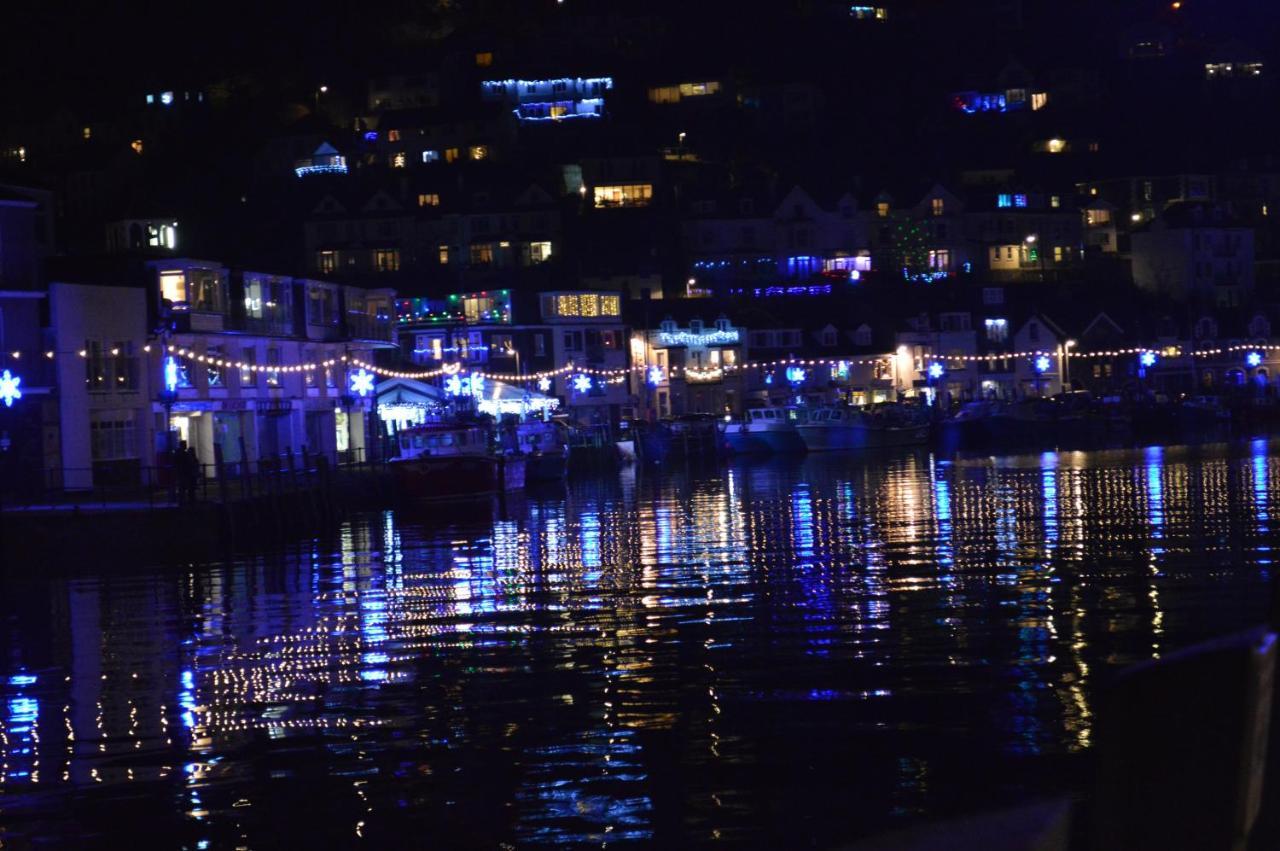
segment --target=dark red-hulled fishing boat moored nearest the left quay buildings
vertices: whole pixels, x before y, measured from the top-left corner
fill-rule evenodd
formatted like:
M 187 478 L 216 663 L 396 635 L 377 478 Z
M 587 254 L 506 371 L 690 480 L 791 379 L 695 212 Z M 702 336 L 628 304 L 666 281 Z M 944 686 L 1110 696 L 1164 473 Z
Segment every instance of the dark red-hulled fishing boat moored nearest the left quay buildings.
M 412 499 L 486 497 L 525 486 L 525 459 L 498 454 L 479 424 L 429 422 L 399 433 L 390 462 L 401 494 Z

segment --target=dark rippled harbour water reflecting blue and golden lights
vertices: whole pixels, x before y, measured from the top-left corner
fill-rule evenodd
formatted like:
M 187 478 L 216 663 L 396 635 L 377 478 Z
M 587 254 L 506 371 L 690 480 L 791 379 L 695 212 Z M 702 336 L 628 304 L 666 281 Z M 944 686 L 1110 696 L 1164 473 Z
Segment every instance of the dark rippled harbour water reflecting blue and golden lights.
M 1108 673 L 1262 617 L 1277 511 L 1265 441 L 922 452 L 10 564 L 0 846 L 820 847 L 1069 791 Z

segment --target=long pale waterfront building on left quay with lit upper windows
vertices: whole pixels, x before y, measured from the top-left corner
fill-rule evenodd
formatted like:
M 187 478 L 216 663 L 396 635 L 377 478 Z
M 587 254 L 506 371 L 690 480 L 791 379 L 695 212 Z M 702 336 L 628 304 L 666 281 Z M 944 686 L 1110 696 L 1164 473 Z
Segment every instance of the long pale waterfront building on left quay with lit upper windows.
M 367 458 L 390 290 L 186 257 L 67 266 L 50 285 L 60 486 L 131 482 L 184 441 L 209 475 L 288 453 Z

